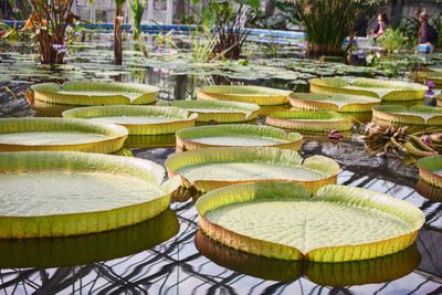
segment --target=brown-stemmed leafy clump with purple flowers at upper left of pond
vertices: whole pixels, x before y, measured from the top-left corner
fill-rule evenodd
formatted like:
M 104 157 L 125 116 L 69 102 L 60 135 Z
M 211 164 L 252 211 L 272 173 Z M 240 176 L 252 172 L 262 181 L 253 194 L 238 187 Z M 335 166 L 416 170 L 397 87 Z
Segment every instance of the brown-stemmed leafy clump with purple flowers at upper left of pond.
M 21 31 L 31 30 L 40 61 L 44 64 L 63 63 L 67 28 L 78 20 L 72 12 L 74 0 L 29 1 L 32 13 Z

